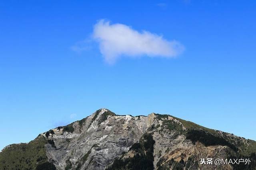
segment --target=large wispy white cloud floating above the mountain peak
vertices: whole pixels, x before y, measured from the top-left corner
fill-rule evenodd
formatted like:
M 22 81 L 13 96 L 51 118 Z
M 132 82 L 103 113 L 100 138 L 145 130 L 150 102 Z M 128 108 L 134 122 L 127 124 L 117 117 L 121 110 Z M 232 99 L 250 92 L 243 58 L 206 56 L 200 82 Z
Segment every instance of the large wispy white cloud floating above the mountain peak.
M 168 41 L 148 31 L 136 31 L 124 24 L 110 24 L 100 20 L 94 25 L 93 38 L 100 45 L 100 52 L 108 63 L 121 56 L 175 57 L 184 51 L 178 41 Z

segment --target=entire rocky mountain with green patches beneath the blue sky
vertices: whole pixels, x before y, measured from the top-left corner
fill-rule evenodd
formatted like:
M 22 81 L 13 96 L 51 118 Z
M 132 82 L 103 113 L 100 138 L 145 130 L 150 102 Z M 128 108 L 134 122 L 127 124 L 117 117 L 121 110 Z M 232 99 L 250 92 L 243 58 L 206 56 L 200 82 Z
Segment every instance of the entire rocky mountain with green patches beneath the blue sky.
M 116 115 L 99 109 L 29 143 L 0 152 L 0 170 L 256 169 L 256 141 L 171 115 Z M 200 158 L 250 164 L 200 164 Z

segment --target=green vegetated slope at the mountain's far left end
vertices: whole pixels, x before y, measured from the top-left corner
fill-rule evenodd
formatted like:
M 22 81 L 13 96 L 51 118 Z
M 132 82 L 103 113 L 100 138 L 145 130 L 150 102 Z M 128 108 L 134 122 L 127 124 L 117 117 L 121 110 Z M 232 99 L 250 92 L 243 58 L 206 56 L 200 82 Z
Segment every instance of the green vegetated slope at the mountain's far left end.
M 46 143 L 46 139 L 40 136 L 30 143 L 10 145 L 0 152 L 0 170 L 32 170 L 36 167 L 42 169 L 47 164 L 44 147 Z M 41 164 L 43 165 L 40 166 Z

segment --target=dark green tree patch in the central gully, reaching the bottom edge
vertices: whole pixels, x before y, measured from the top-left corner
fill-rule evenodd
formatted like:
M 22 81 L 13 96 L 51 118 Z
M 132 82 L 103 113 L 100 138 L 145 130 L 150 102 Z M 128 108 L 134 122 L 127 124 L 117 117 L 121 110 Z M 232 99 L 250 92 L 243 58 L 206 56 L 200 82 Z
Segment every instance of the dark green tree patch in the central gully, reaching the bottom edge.
M 154 139 L 151 134 L 144 134 L 139 143 L 132 145 L 130 150 L 136 152 L 134 157 L 118 158 L 106 170 L 153 170 Z

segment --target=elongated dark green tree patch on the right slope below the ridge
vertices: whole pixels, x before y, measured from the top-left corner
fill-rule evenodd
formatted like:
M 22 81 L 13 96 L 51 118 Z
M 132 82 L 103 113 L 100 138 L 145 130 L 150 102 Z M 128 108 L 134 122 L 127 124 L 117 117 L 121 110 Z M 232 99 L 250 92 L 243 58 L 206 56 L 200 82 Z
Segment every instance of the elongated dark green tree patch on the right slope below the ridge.
M 222 145 L 222 146 L 228 146 L 234 151 L 237 151 L 237 147 L 235 147 L 233 144 L 226 141 L 224 138 L 212 135 L 212 133 L 209 133 L 208 131 L 203 130 L 189 130 L 186 133 L 186 139 L 190 139 L 192 143 L 196 143 L 196 141 L 204 144 L 207 146 L 212 145 Z

